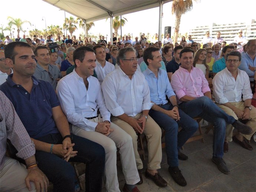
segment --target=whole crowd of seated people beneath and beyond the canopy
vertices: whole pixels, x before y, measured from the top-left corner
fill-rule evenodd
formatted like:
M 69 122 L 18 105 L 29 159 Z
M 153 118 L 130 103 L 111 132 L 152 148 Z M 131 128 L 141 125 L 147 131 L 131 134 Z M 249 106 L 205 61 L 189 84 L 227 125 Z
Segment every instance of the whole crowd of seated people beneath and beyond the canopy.
M 137 139 L 142 133 L 148 148 L 145 177 L 165 187 L 167 178 L 158 172 L 161 128 L 168 172 L 178 185 L 186 186 L 179 160 L 188 156 L 180 149 L 198 129 L 193 119 L 198 116 L 213 124 L 211 160 L 229 174 L 223 159 L 228 142 L 253 149 L 256 39 L 245 41 L 239 30 L 234 43 L 226 45 L 220 35 L 212 38 L 206 32 L 201 43 L 189 35 L 174 44 L 170 34 L 164 44 L 149 43 L 145 34 L 134 41 L 113 34 L 113 44 L 104 36 L 98 42 L 91 37 L 40 36 L 3 45 L 0 173 L 13 167 L 0 174 L 0 191 L 47 191 L 49 182 L 54 191 L 74 191 L 75 171 L 68 162 L 82 162 L 86 191 L 100 192 L 104 181 L 106 191 L 118 192 L 119 149 L 122 190 L 139 192 L 143 163 Z M 57 43 L 58 51 L 49 50 L 50 42 Z M 233 135 L 233 129 L 238 134 Z M 7 139 L 25 166 L 5 155 Z

